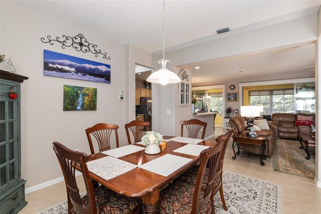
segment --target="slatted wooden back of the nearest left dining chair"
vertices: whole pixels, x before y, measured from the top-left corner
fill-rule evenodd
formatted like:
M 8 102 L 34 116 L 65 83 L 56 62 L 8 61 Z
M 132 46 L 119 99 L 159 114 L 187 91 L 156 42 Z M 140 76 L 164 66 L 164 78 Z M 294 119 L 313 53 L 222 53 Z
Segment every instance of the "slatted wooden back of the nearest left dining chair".
M 59 142 L 53 143 L 53 149 L 56 153 L 65 179 L 68 199 L 68 213 L 70 213 L 70 210 L 73 206 L 82 213 L 96 213 L 93 187 L 86 165 L 86 162 L 89 161 L 89 157 L 85 153 L 70 150 Z M 83 178 L 85 180 L 89 207 L 82 203 L 80 197 L 75 176 L 76 164 L 79 164 L 81 167 Z

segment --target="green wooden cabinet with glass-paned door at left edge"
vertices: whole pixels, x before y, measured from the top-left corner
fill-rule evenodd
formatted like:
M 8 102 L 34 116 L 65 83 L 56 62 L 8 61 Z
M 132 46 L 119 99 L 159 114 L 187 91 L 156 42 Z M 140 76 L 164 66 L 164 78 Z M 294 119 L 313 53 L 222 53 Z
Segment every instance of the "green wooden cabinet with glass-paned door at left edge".
M 26 204 L 21 178 L 20 84 L 28 77 L 0 70 L 0 210 L 18 213 Z M 16 99 L 9 91 L 17 92 Z

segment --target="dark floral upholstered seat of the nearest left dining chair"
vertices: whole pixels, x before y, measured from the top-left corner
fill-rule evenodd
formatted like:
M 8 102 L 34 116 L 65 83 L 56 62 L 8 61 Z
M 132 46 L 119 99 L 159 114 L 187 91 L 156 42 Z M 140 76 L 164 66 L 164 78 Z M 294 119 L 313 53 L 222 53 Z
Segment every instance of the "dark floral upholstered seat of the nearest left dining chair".
M 116 192 L 100 185 L 94 189 L 94 197 L 97 213 L 128 213 L 134 209 L 135 206 L 141 204 L 140 198 L 126 197 L 125 195 L 117 194 Z M 85 194 L 81 198 L 83 204 L 88 205 L 88 197 Z M 75 207 L 72 208 L 71 213 L 80 214 Z

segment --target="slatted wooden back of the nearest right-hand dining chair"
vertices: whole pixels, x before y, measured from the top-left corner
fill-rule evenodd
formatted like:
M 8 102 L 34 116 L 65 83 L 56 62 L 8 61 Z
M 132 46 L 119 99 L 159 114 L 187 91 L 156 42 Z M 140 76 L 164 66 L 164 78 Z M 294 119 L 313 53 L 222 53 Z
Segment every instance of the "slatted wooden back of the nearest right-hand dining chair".
M 199 209 L 208 203 L 208 200 L 211 200 L 211 207 L 208 213 L 214 212 L 214 201 L 212 200 L 213 186 L 225 141 L 226 138 L 223 137 L 215 147 L 208 148 L 200 154 L 201 164 L 195 185 L 192 213 L 198 213 Z M 209 175 L 204 176 L 207 166 Z

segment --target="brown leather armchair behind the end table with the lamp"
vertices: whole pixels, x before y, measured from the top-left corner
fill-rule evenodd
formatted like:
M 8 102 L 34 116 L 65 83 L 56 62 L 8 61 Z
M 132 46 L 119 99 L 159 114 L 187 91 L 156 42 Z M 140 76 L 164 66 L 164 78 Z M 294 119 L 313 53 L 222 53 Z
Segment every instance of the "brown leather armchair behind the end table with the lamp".
M 245 130 L 245 119 L 241 116 L 235 116 L 230 119 L 230 124 L 233 129 L 233 134 L 236 133 L 248 133 L 247 130 Z M 261 130 L 261 131 L 255 131 L 257 135 L 264 135 L 267 136 L 267 142 L 266 142 L 266 148 L 265 148 L 265 156 L 271 157 L 273 154 L 273 144 L 274 144 L 274 133 L 272 130 Z M 242 144 L 240 143 L 240 149 L 246 152 L 251 152 L 254 154 L 261 154 L 262 150 L 261 147 L 256 145 L 250 145 L 250 144 Z

